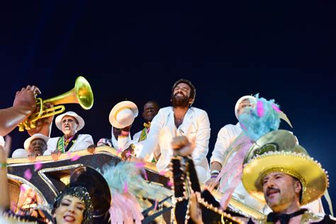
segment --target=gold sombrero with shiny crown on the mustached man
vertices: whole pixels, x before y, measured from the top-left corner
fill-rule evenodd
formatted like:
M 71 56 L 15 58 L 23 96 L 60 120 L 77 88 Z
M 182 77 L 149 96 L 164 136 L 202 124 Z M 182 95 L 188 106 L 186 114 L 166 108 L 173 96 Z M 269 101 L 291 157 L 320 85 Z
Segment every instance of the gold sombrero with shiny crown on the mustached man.
M 270 136 L 272 138 L 269 138 Z M 309 157 L 300 145 L 289 147 L 293 138 L 295 138 L 293 134 L 286 130 L 276 130 L 259 138 L 247 153 L 247 157 L 252 154 L 255 156 L 244 166 L 242 184 L 247 192 L 257 200 L 266 203 L 262 191 L 262 179 L 271 172 L 283 172 L 301 181 L 301 206 L 315 201 L 325 193 L 329 185 L 325 170 L 320 163 Z M 278 144 L 279 142 L 281 144 Z M 278 144 L 276 147 L 270 147 L 276 144 Z M 281 147 L 281 145 L 286 147 Z

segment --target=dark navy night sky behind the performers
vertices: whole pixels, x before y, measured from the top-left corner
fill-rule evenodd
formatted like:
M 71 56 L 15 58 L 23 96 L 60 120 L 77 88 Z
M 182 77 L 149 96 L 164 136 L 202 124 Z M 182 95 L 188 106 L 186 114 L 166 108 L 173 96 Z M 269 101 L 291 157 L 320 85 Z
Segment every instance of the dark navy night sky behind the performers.
M 1 108 L 23 86 L 39 86 L 47 99 L 82 75 L 94 107 L 66 108 L 84 118 L 81 133 L 96 142 L 111 137 L 113 105 L 128 99 L 140 113 L 150 99 L 169 106 L 172 84 L 183 77 L 196 86 L 194 106 L 208 112 L 211 152 L 218 130 L 237 122 L 237 99 L 259 93 L 280 104 L 301 145 L 329 171 L 335 200 L 335 1 L 205 2 L 1 3 Z M 133 133 L 141 125 L 138 117 Z M 59 135 L 54 125 L 52 137 Z M 28 138 L 17 129 L 11 136 L 12 150 Z

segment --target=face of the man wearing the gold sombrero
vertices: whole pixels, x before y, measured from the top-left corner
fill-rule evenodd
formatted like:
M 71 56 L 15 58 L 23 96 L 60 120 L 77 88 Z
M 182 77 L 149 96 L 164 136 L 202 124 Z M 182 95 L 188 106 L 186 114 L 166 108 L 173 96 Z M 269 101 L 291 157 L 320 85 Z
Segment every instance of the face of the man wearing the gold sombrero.
M 268 174 L 262 180 L 262 189 L 267 205 L 276 213 L 285 211 L 293 204 L 300 204 L 301 183 L 287 174 Z

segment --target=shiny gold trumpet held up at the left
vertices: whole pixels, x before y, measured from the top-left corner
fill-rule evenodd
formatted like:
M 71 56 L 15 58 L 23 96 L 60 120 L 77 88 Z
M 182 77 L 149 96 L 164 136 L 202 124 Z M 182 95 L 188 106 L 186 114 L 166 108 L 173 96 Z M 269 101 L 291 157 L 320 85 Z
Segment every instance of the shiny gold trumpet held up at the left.
M 52 108 L 46 108 L 46 104 L 53 105 Z M 52 97 L 50 99 L 41 98 L 36 99 L 36 108 L 38 110 L 30 115 L 25 121 L 18 124 L 18 130 L 30 130 L 36 128 L 36 121 L 42 118 L 55 116 L 56 114 L 65 111 L 65 103 L 79 103 L 84 110 L 89 110 L 94 105 L 94 94 L 92 93 L 89 82 L 84 77 L 77 77 L 74 83 L 74 89 L 67 91 L 59 96 Z M 55 106 L 58 105 L 58 106 Z

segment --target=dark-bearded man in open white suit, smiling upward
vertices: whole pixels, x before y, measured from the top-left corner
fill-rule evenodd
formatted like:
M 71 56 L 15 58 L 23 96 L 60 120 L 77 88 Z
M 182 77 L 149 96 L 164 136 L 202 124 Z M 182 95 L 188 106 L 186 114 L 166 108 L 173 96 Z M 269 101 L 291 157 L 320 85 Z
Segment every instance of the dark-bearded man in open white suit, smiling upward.
M 195 96 L 195 86 L 189 80 L 180 79 L 175 82 L 172 88 L 172 106 L 161 108 L 152 120 L 147 139 L 132 146 L 135 150 L 140 150 L 138 154 L 140 159 L 146 159 L 152 152 L 160 152 L 161 157 L 157 161 L 157 169 L 162 172 L 168 170 L 172 159 L 172 138 L 181 135 L 185 135 L 189 140 L 195 138 L 196 147 L 192 157 L 198 179 L 205 182 L 210 177 L 210 169 L 206 159 L 210 123 L 206 111 L 191 107 Z M 124 151 L 124 158 L 126 153 Z

